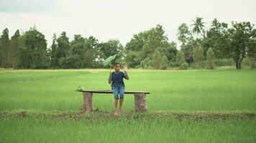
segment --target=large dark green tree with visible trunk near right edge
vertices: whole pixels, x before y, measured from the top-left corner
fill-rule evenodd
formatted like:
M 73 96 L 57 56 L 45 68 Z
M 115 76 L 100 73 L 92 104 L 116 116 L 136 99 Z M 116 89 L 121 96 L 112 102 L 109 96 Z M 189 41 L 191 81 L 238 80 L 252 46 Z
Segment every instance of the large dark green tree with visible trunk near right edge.
M 247 54 L 252 41 L 253 25 L 250 22 L 232 22 L 229 30 L 229 56 L 236 62 L 236 68 L 241 69 L 241 63 Z

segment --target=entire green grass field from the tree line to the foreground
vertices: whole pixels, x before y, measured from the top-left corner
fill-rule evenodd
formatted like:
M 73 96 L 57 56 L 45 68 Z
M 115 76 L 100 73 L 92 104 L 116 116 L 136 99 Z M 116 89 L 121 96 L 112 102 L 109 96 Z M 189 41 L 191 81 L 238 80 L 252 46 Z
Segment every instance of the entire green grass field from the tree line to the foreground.
M 82 95 L 75 89 L 110 89 L 108 75 L 107 69 L 0 70 L 0 142 L 256 141 L 255 70 L 132 69 L 126 90 L 150 92 L 147 114 L 134 114 L 127 94 L 124 114 L 114 117 L 113 96 L 93 94 L 98 112 L 79 115 Z

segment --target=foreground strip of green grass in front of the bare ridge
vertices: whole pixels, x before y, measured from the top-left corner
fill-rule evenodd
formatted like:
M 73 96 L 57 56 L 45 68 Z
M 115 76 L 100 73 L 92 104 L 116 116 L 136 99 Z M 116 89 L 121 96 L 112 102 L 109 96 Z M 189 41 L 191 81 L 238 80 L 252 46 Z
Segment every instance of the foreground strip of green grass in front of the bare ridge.
M 255 142 L 256 119 L 201 119 L 132 114 L 13 116 L 0 122 L 2 142 Z M 55 115 L 55 116 L 52 116 Z M 168 118 L 165 118 L 168 117 Z

